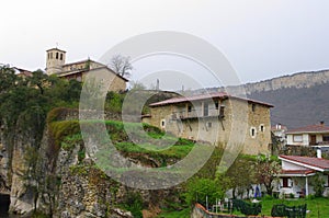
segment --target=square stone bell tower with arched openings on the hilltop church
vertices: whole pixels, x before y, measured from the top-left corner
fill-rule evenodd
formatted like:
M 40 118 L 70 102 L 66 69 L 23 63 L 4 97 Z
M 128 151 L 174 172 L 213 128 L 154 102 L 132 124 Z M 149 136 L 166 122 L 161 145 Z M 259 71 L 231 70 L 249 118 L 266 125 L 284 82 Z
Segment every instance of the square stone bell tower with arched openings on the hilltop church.
M 46 73 L 59 74 L 63 71 L 65 65 L 66 51 L 58 48 L 50 48 L 46 50 Z

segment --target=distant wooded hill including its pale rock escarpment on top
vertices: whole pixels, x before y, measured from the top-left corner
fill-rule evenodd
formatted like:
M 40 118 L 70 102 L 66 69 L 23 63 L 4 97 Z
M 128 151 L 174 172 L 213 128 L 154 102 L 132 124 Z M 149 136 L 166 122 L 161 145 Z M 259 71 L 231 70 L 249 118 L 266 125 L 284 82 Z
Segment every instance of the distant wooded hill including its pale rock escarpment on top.
M 329 124 L 329 70 L 300 72 L 246 84 L 251 99 L 274 105 L 272 124 L 288 128 L 325 121 Z

